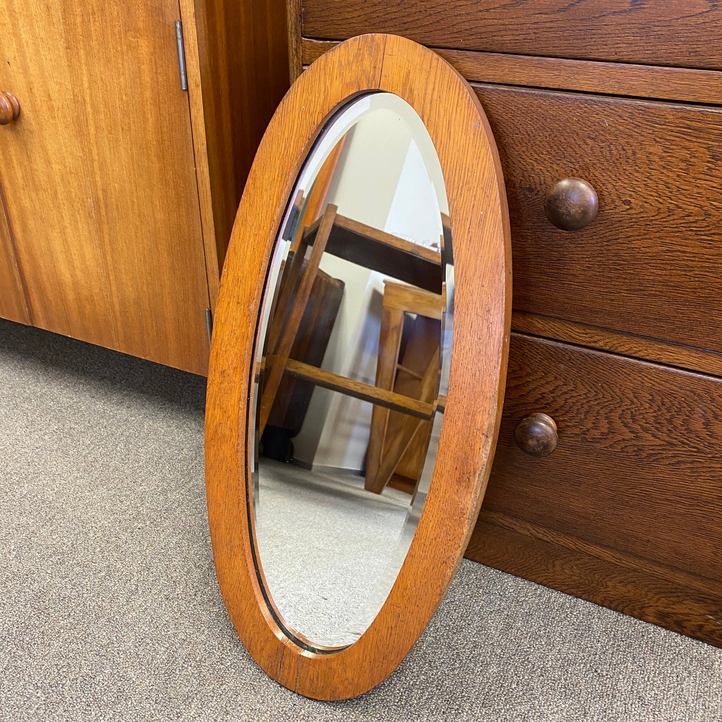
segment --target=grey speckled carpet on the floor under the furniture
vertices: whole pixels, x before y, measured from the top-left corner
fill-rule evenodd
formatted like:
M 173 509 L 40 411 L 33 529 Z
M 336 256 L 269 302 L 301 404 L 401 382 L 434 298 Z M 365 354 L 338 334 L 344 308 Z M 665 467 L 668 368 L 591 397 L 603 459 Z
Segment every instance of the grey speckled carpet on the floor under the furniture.
M 376 690 L 279 687 L 219 596 L 203 396 L 0 321 L 2 720 L 722 720 L 722 651 L 473 562 Z

